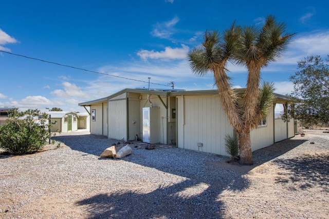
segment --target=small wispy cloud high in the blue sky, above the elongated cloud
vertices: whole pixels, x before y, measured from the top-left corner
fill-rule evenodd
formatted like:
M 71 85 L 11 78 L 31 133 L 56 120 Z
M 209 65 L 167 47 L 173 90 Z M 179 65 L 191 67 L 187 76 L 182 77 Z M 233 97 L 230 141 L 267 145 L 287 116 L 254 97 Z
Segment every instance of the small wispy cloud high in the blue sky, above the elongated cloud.
M 152 30 L 151 34 L 155 37 L 169 39 L 176 30 L 174 26 L 179 22 L 178 17 L 174 17 L 168 22 L 158 23 L 155 25 L 154 29 Z

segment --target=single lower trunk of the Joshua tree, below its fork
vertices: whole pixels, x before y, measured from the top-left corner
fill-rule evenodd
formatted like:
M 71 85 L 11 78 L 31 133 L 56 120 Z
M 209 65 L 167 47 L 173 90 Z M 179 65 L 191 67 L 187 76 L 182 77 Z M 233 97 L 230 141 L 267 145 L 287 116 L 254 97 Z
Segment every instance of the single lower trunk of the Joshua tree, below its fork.
M 239 134 L 240 163 L 252 165 L 250 130 L 242 130 Z

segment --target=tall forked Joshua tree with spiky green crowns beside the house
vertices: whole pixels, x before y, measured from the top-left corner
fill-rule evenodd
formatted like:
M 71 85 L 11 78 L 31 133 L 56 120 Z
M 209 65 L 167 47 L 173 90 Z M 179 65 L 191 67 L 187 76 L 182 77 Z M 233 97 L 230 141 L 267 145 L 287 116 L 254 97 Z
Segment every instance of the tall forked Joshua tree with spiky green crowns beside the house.
M 285 34 L 285 25 L 277 23 L 275 17 L 267 16 L 265 25 L 257 27 L 235 27 L 224 31 L 205 33 L 202 47 L 189 53 L 192 71 L 198 75 L 214 74 L 223 108 L 231 126 L 238 133 L 240 163 L 252 164 L 250 131 L 266 116 L 274 99 L 273 84 L 260 85 L 261 69 L 276 61 L 294 34 Z M 231 88 L 227 75 L 227 62 L 244 65 L 248 79 L 242 98 Z

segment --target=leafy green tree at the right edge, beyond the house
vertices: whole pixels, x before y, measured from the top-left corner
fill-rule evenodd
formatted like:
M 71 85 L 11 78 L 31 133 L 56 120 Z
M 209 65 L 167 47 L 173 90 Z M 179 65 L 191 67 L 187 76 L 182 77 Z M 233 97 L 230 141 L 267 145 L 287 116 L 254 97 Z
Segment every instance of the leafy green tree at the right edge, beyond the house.
M 326 63 L 319 55 L 308 56 L 298 62 L 298 69 L 290 76 L 294 91 L 290 94 L 297 104 L 289 113 L 303 125 L 329 122 L 329 55 Z

